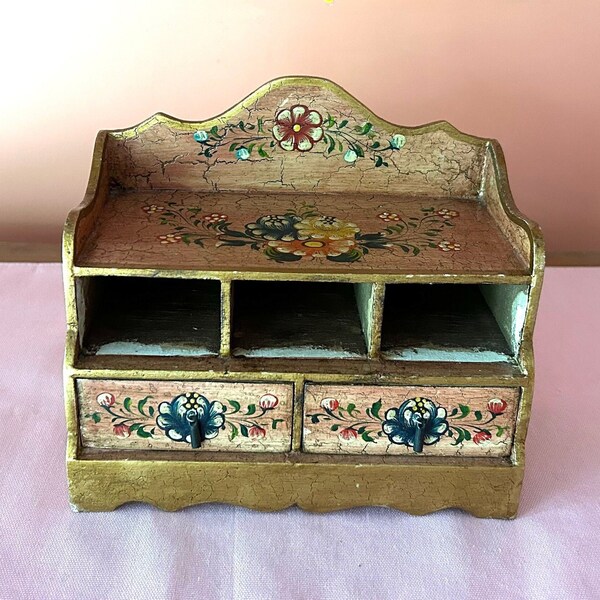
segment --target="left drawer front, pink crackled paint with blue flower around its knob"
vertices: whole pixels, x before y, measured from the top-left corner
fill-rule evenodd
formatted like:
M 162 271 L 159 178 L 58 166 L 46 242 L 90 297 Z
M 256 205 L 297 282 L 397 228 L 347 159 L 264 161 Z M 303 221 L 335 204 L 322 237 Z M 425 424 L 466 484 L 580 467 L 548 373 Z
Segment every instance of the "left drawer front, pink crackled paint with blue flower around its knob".
M 79 379 L 76 385 L 86 447 L 199 452 L 291 448 L 291 383 Z M 192 425 L 186 418 L 190 409 L 199 415 L 198 450 L 192 448 Z

